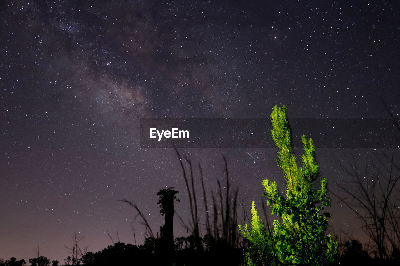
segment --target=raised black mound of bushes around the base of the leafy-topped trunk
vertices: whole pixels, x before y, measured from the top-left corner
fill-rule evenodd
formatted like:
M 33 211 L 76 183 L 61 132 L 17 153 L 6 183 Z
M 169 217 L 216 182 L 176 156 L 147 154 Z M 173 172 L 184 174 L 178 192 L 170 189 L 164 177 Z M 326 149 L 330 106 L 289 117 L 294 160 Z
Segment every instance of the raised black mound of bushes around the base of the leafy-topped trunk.
M 87 252 L 78 261 L 81 265 L 240 265 L 241 248 L 230 248 L 225 242 L 215 240 L 210 235 L 200 238 L 203 251 L 197 250 L 194 235 L 175 239 L 175 249 L 166 249 L 162 238 L 148 237 L 144 244 L 115 243 L 96 253 Z

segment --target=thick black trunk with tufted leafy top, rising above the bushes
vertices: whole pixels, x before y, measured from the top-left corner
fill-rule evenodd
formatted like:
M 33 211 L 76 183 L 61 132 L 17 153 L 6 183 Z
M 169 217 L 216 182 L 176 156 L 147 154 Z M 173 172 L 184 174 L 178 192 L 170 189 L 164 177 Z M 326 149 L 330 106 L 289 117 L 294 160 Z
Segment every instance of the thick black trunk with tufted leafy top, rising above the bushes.
M 160 189 L 158 191 L 158 202 L 160 205 L 160 214 L 165 216 L 165 223 L 162 226 L 161 238 L 163 238 L 164 244 L 169 251 L 174 250 L 174 200 L 180 202 L 175 196 L 179 191 L 174 190 L 173 187 L 168 189 Z

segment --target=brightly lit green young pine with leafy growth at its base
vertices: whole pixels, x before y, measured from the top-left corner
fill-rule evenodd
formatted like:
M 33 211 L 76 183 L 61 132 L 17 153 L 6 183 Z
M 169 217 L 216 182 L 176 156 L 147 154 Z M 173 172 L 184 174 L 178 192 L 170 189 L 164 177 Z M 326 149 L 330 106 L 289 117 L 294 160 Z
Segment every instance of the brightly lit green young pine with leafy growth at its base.
M 293 153 L 286 107 L 274 107 L 271 114 L 271 136 L 278 147 L 277 163 L 286 180 L 286 198 L 276 182 L 262 181 L 268 197 L 267 204 L 274 220 L 273 228 L 264 226 L 252 202 L 252 222 L 239 230 L 249 241 L 245 254 L 246 265 L 332 265 L 337 261 L 338 242 L 325 235 L 330 214 L 323 212 L 330 207 L 325 178 L 319 178 L 312 139 L 302 136 L 304 154 L 298 167 Z

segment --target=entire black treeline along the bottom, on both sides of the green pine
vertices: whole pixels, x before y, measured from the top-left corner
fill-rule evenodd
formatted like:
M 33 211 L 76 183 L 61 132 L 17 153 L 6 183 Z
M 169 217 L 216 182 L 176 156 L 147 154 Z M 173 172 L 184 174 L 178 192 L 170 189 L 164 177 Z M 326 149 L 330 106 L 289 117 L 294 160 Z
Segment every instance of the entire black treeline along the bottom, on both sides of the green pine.
M 226 242 L 218 241 L 206 234 L 201 238 L 203 251 L 196 249 L 194 235 L 175 238 L 175 250 L 165 252 L 161 238 L 148 237 L 144 244 L 139 246 L 133 244 L 115 243 L 96 253 L 86 252 L 79 260 L 68 257 L 64 264 L 58 260 L 50 260 L 46 257 L 30 259 L 30 264 L 25 260 L 4 261 L 0 258 L 0 266 L 59 266 L 59 265 L 87 265 L 87 266 L 122 266 L 122 265 L 241 265 L 243 250 L 241 248 L 230 248 Z M 400 265 L 400 250 L 395 248 L 391 256 L 386 260 L 371 258 L 360 242 L 356 240 L 346 241 L 340 256 L 341 266 L 398 266 Z

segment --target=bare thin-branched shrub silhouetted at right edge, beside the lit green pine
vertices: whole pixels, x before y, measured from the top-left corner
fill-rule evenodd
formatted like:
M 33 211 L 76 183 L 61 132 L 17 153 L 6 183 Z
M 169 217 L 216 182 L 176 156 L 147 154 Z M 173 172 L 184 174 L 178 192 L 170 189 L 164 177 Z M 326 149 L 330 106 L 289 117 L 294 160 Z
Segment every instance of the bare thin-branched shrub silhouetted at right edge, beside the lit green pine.
M 346 197 L 336 196 L 362 221 L 368 238 L 372 240 L 367 250 L 380 259 L 386 259 L 400 245 L 400 165 L 393 155 L 376 155 L 364 164 L 354 156 L 343 169 L 351 177 L 351 182 L 338 184 L 347 193 Z

